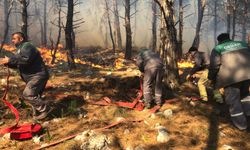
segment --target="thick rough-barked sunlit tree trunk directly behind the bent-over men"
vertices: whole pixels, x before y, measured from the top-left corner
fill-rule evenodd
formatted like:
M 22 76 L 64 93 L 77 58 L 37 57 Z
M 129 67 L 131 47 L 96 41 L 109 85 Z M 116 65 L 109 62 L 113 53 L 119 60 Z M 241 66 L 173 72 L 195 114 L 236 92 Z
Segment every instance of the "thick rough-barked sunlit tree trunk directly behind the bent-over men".
M 177 68 L 177 31 L 174 23 L 173 2 L 155 0 L 161 8 L 160 55 L 166 65 L 164 82 L 169 88 L 178 87 L 179 74 Z

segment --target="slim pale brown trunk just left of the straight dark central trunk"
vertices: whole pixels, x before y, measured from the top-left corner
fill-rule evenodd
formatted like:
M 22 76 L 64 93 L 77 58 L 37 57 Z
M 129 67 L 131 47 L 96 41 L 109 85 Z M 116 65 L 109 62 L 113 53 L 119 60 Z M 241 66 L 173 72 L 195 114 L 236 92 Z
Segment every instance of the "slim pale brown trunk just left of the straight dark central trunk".
M 115 18 L 115 33 L 117 39 L 117 47 L 122 49 L 122 36 L 121 36 L 121 28 L 120 28 L 120 19 L 118 12 L 117 0 L 113 0 L 114 5 L 114 18 Z

